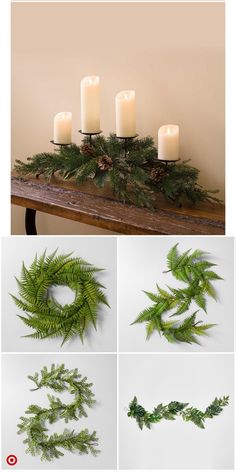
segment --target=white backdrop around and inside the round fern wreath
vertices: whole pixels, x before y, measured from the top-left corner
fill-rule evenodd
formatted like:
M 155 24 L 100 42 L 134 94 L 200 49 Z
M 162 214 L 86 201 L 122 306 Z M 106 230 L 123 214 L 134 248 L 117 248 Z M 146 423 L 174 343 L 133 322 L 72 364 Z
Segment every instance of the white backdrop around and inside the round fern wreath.
M 47 254 L 58 248 L 58 254 L 74 252 L 73 256 L 82 257 L 98 268 L 104 268 L 96 274 L 107 289 L 104 290 L 108 303 L 100 305 L 97 331 L 93 327 L 81 343 L 79 337 L 73 338 L 61 348 L 61 338 L 35 340 L 23 338 L 31 334 L 30 330 L 16 315 L 23 315 L 11 299 L 9 293 L 17 294 L 15 276 L 19 277 L 22 261 L 28 267 L 36 252 Z M 11 237 L 2 241 L 2 350 L 3 351 L 116 351 L 116 239 L 85 237 Z M 54 296 L 60 303 L 70 303 L 66 290 L 58 287 Z M 61 298 L 62 295 L 62 298 Z M 59 298 L 60 297 L 60 298 Z

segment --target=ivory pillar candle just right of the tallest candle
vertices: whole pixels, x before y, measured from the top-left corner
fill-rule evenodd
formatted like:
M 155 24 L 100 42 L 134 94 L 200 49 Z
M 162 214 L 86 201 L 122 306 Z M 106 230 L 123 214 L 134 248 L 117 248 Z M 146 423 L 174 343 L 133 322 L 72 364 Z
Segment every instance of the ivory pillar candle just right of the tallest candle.
M 116 95 L 116 136 L 130 138 L 135 134 L 135 92 L 124 90 Z

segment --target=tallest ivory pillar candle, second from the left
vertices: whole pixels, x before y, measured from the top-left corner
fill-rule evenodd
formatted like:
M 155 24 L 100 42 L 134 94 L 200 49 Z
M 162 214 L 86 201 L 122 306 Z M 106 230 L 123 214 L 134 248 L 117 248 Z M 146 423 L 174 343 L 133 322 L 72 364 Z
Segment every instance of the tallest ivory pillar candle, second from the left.
M 100 131 L 100 79 L 96 76 L 84 77 L 81 90 L 81 131 L 98 133 Z

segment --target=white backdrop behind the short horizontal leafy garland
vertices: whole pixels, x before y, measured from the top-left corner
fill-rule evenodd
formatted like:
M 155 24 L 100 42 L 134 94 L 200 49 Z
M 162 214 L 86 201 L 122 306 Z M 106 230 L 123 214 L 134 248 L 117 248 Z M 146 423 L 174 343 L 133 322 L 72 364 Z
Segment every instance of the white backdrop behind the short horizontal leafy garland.
M 233 355 L 120 355 L 120 468 L 233 468 Z M 158 403 L 189 402 L 204 410 L 217 396 L 230 405 L 205 430 L 181 418 L 141 431 L 127 416 L 134 395 L 148 411 Z

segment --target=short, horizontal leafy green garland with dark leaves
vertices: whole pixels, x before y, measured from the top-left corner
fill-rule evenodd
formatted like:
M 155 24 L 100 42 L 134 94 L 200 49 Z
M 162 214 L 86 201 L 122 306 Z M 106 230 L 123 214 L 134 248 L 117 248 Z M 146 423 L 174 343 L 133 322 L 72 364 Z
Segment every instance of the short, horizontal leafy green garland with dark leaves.
M 189 403 L 170 402 L 168 405 L 160 403 L 150 413 L 138 404 L 137 397 L 134 397 L 129 404 L 127 415 L 134 418 L 140 429 L 146 426 L 151 429 L 152 423 L 159 423 L 161 420 L 175 420 L 176 416 L 181 416 L 184 421 L 192 421 L 196 426 L 205 429 L 204 422 L 207 418 L 218 416 L 225 406 L 229 404 L 229 397 L 215 398 L 205 411 L 188 407 Z M 188 408 L 187 408 L 188 407 Z

